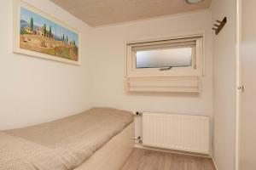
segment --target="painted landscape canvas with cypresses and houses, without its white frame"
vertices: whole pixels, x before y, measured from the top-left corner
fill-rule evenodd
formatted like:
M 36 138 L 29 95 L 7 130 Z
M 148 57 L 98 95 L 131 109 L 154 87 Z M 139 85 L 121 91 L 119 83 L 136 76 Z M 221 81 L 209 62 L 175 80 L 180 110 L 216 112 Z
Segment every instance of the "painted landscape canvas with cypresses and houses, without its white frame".
M 43 58 L 47 55 L 47 59 L 79 62 L 79 33 L 27 6 L 20 5 L 19 18 L 19 48 L 40 53 Z

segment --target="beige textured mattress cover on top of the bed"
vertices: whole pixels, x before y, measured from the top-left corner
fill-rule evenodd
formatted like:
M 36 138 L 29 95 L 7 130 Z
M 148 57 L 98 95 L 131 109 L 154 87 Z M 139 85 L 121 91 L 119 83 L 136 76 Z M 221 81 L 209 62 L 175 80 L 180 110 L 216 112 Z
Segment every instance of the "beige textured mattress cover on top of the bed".
M 94 108 L 55 122 L 0 132 L 0 168 L 73 169 L 132 121 L 131 112 Z

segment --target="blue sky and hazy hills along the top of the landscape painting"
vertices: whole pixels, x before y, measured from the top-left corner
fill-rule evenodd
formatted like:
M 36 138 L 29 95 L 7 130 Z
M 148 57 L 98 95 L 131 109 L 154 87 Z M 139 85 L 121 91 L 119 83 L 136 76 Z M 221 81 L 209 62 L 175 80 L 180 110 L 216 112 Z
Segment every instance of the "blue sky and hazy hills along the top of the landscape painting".
M 29 24 L 30 19 L 33 18 L 35 26 L 44 26 L 46 24 L 47 30 L 49 30 L 49 26 L 51 26 L 51 30 L 55 36 L 62 37 L 64 34 L 65 37 L 68 37 L 69 41 L 75 41 L 77 45 L 79 45 L 79 36 L 73 31 L 69 31 L 67 28 L 64 28 L 53 21 L 50 21 L 40 14 L 36 14 L 31 10 L 21 7 L 20 8 L 20 20 L 26 20 Z

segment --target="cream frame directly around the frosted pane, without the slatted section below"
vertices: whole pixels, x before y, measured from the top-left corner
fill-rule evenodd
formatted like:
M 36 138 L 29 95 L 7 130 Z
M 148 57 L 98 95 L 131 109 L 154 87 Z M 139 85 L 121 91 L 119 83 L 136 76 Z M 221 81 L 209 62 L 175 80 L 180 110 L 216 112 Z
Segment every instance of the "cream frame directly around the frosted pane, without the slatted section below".
M 165 39 L 154 39 L 150 41 L 126 42 L 126 76 L 127 77 L 199 77 L 203 75 L 203 34 L 191 35 L 186 37 L 168 37 Z M 179 47 L 186 42 L 195 41 L 195 54 L 192 59 L 195 59 L 195 69 L 192 67 L 173 67 L 170 70 L 160 71 L 160 68 L 137 68 L 136 52 L 139 50 L 148 49 L 147 46 Z M 134 49 L 136 48 L 136 49 Z M 193 63 L 193 61 L 192 61 Z

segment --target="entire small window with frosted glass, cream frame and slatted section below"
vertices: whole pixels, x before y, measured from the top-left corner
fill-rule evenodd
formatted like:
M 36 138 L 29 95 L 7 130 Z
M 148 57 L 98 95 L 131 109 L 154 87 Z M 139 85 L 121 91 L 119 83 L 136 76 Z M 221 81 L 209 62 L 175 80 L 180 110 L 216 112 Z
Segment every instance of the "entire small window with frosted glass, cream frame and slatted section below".
M 126 44 L 127 90 L 148 91 L 150 87 L 149 91 L 161 91 L 165 86 L 163 91 L 199 92 L 203 68 L 202 44 L 202 34 L 128 42 Z M 141 84 L 141 87 L 138 84 Z M 176 87 L 176 89 L 167 89 L 167 87 Z

